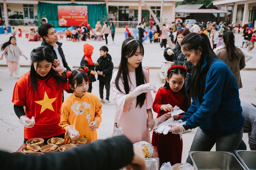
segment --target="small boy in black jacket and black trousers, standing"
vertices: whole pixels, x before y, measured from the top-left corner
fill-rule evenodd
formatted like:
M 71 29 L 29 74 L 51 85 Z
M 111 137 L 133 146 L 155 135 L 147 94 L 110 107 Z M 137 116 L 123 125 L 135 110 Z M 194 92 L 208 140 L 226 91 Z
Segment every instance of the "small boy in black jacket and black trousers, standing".
M 110 81 L 112 78 L 112 73 L 114 69 L 114 64 L 112 63 L 112 58 L 108 54 L 108 47 L 100 47 L 100 58 L 97 61 L 98 66 L 95 67 L 95 70 L 98 74 L 99 80 L 99 91 L 100 91 L 100 102 L 102 104 L 109 103 L 109 93 L 110 93 Z M 106 99 L 103 100 L 103 89 L 106 89 Z

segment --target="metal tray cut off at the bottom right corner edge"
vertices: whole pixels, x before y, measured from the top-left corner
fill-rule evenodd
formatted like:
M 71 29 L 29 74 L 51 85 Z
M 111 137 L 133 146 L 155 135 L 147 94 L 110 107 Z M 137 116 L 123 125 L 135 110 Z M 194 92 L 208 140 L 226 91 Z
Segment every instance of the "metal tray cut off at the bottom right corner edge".
M 256 170 L 256 151 L 235 150 L 235 153 L 247 170 Z

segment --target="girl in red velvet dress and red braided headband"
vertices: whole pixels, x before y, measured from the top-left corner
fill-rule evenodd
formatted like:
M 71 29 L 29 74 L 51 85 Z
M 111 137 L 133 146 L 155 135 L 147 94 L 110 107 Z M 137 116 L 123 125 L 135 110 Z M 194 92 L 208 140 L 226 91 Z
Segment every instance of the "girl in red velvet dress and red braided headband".
M 174 106 L 180 107 L 183 111 L 187 111 L 190 102 L 186 92 L 184 82 L 186 80 L 187 70 L 184 66 L 171 66 L 167 71 L 166 82 L 163 87 L 158 89 L 153 104 L 153 110 L 158 113 L 157 117 L 162 115 L 166 119 L 170 119 L 170 114 Z M 175 115 L 173 118 L 179 120 L 184 113 Z M 168 133 L 157 134 L 153 132 L 152 145 L 158 149 L 160 164 L 170 162 L 171 165 L 181 163 L 182 157 L 182 139 L 180 135 Z

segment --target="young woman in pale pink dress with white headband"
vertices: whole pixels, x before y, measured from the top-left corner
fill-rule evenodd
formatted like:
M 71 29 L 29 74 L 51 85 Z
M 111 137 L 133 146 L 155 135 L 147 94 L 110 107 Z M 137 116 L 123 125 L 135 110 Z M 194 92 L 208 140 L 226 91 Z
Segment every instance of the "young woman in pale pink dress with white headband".
M 132 143 L 150 142 L 148 123 L 153 119 L 153 97 L 156 86 L 149 83 L 142 67 L 144 48 L 140 41 L 127 38 L 122 44 L 121 61 L 114 72 L 111 87 L 116 102 L 115 120 Z M 147 118 L 148 117 L 148 118 Z

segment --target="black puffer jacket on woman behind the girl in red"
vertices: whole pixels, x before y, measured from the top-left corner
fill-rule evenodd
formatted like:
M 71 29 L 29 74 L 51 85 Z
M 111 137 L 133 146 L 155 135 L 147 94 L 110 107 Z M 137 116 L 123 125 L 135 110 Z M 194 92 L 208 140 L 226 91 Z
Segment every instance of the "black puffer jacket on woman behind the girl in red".
M 173 51 L 173 55 L 168 55 L 167 54 L 167 50 L 171 49 L 170 47 L 167 47 L 166 49 L 164 49 L 164 58 L 167 61 L 171 61 L 174 62 L 175 65 L 181 65 L 181 66 L 186 66 L 188 73 L 192 73 L 192 68 L 193 68 L 193 64 L 189 61 L 187 61 L 187 57 L 185 55 L 183 55 L 182 51 L 181 51 L 181 47 L 180 45 L 175 45 L 174 49 L 172 49 Z

